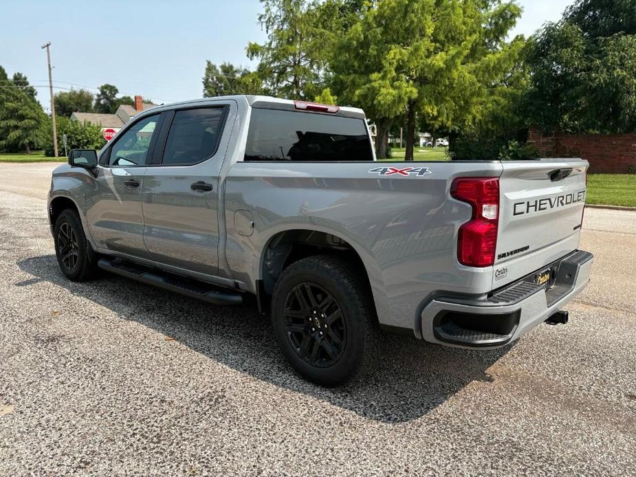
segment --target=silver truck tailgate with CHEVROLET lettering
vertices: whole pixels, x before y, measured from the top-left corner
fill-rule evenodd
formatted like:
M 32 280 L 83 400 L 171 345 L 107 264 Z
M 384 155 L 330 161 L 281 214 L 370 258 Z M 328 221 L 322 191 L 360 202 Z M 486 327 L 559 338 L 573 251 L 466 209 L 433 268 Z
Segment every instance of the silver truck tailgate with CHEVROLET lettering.
M 502 165 L 493 288 L 578 247 L 589 163 L 541 159 Z

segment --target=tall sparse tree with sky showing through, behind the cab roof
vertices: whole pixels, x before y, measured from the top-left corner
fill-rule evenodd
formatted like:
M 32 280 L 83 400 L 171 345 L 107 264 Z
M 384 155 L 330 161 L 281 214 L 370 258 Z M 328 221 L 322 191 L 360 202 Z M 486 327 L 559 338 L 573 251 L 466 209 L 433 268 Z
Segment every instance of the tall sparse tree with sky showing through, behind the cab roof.
M 321 16 L 326 10 L 318 8 L 316 0 L 261 2 L 264 12 L 259 21 L 267 41 L 263 45 L 250 43 L 247 48 L 248 58 L 260 62 L 256 73 L 276 96 L 314 98 L 322 91 L 329 43 L 325 39 L 331 36 Z

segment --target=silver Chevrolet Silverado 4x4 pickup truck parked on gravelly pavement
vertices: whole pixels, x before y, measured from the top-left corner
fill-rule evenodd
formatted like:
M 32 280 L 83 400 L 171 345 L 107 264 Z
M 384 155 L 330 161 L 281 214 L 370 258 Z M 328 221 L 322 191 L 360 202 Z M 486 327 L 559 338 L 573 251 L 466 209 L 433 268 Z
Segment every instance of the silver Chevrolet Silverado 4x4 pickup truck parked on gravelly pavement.
M 504 346 L 589 282 L 580 159 L 375 162 L 360 109 L 265 96 L 160 106 L 54 170 L 63 274 L 212 304 L 247 293 L 300 374 L 340 384 L 382 333 Z

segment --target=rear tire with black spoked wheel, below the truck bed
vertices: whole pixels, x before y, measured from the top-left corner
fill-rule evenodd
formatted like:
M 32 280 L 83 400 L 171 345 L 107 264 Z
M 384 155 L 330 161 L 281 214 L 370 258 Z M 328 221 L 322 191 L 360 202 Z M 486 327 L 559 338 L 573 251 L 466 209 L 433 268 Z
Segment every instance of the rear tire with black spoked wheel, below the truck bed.
M 276 282 L 272 325 L 283 355 L 309 381 L 338 386 L 375 367 L 375 304 L 364 271 L 329 255 L 289 265 Z

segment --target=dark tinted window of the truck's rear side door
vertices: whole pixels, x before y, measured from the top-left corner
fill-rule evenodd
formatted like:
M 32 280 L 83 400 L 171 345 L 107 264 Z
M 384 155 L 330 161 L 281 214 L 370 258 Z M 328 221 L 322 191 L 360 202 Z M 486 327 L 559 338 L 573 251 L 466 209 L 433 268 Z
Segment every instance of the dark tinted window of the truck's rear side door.
M 164 166 L 196 164 L 217 152 L 225 107 L 177 111 L 166 138 Z

